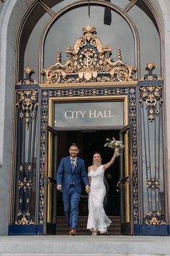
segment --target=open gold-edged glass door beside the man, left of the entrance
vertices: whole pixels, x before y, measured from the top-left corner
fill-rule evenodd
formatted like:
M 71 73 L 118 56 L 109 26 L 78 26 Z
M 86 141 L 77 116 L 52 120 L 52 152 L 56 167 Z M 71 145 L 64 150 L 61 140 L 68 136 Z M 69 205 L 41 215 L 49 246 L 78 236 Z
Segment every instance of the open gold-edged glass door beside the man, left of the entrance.
M 47 128 L 45 155 L 45 234 L 56 233 L 56 169 L 57 169 L 57 132 Z

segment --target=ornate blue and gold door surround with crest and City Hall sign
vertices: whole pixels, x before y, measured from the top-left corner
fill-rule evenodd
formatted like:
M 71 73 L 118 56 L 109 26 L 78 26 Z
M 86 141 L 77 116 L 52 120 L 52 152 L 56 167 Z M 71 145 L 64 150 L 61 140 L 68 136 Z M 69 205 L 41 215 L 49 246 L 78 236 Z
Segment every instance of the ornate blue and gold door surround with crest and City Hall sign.
M 94 27 L 84 28 L 84 35 L 75 46 L 68 47 L 64 64 L 58 51 L 57 62 L 42 70 L 45 80 L 40 85 L 32 79 L 30 68 L 25 69 L 26 78 L 16 85 L 17 172 L 10 234 L 49 234 L 54 230 L 48 229 L 55 226 L 57 216 L 55 192 L 51 192 L 48 176 L 55 178 L 53 154 L 57 157 L 60 132 L 66 135 L 78 131 L 80 135 L 91 130 L 102 132 L 104 137 L 104 131 L 111 135 L 128 124 L 132 127 L 129 152 L 133 167 L 126 173 L 131 182 L 124 199 L 130 210 L 125 213 L 124 223 L 128 223 L 130 234 L 167 233 L 161 125 L 163 81 L 153 74 L 152 63 L 147 65 L 148 74 L 143 80 L 135 81 L 136 69 L 122 61 L 120 48 L 117 61 L 113 61 L 111 49 L 104 47 L 95 33 Z M 151 159 L 156 141 L 150 138 L 153 134 L 159 139 L 155 142 L 156 155 Z M 128 152 L 126 144 L 125 147 Z M 66 150 L 66 145 L 62 148 Z M 128 181 L 128 176 L 120 178 Z

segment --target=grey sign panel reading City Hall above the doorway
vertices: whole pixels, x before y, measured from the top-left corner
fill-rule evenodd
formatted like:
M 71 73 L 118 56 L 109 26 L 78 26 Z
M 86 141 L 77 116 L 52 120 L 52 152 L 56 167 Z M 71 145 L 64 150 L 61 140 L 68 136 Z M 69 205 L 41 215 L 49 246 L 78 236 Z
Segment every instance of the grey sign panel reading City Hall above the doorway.
M 54 127 L 123 126 L 123 101 L 55 103 Z

